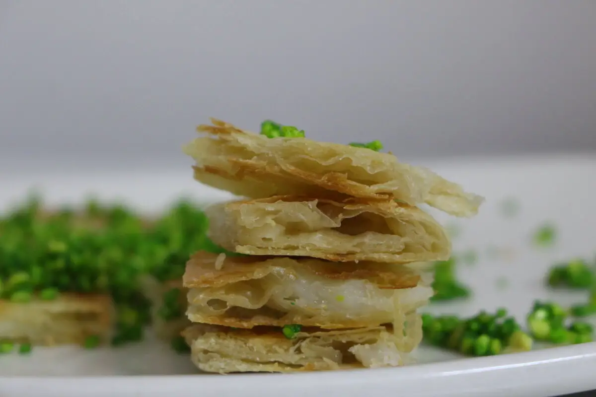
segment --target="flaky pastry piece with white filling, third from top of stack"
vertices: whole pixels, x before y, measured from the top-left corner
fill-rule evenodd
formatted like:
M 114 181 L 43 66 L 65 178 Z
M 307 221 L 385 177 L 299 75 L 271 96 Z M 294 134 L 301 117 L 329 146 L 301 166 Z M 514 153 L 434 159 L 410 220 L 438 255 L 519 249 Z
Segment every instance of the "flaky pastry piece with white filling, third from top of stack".
M 405 315 L 433 295 L 432 273 L 415 267 L 198 252 L 184 274 L 187 315 L 193 323 L 244 329 L 286 324 L 342 329 L 387 323 L 398 329 Z

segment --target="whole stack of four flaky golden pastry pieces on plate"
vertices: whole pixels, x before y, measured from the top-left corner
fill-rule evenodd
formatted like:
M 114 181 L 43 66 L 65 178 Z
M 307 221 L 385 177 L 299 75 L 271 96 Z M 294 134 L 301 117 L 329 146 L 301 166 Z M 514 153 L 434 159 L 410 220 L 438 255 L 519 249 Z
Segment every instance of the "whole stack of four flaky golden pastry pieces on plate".
M 194 363 L 219 373 L 404 364 L 433 295 L 426 262 L 451 252 L 417 205 L 470 216 L 482 198 L 391 154 L 212 122 L 185 148 L 194 177 L 250 199 L 207 209 L 211 239 L 234 254 L 188 261 Z

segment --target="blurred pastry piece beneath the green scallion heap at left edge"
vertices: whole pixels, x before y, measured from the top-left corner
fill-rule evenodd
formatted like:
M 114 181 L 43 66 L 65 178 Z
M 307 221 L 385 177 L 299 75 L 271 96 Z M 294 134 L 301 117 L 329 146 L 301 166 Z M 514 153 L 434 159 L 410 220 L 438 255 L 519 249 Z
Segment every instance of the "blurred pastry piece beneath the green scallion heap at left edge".
M 113 325 L 110 296 L 63 293 L 52 301 L 0 301 L 0 340 L 33 345 L 81 344 L 107 340 Z

